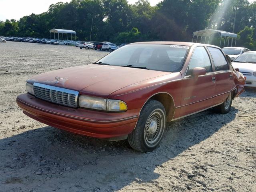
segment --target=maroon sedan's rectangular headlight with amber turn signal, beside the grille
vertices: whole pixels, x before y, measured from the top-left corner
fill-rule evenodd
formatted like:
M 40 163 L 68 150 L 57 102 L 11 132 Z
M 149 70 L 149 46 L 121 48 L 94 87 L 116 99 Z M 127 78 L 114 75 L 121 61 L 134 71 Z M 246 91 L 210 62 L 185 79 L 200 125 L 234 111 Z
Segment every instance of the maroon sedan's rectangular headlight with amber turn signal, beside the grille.
M 125 111 L 127 105 L 120 100 L 104 99 L 81 95 L 79 97 L 79 106 L 89 109 L 104 110 L 104 111 Z

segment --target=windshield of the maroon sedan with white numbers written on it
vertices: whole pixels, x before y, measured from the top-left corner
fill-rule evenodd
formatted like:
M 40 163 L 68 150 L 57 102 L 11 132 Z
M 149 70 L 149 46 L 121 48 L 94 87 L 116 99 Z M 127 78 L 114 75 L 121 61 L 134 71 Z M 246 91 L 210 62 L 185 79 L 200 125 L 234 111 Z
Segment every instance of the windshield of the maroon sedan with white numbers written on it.
M 115 50 L 98 62 L 174 72 L 181 68 L 188 48 L 189 46 L 180 45 L 130 44 Z

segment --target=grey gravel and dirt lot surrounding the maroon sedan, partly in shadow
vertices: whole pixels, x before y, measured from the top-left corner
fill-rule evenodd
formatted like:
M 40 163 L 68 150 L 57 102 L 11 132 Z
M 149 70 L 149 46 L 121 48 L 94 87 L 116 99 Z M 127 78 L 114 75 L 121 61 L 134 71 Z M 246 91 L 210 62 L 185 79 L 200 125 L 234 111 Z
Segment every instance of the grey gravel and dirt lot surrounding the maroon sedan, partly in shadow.
M 108 52 L 90 51 L 92 63 Z M 207 110 L 168 123 L 159 148 L 132 150 L 63 132 L 22 113 L 16 96 L 35 74 L 87 64 L 88 50 L 0 43 L 0 191 L 256 192 L 256 89 L 229 114 Z

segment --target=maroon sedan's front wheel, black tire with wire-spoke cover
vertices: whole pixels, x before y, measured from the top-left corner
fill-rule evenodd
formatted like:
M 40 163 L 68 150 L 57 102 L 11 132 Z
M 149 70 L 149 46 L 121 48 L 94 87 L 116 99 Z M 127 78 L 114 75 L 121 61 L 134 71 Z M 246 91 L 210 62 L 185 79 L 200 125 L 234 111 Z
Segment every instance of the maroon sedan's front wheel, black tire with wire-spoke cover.
M 160 144 L 165 128 L 164 106 L 156 100 L 148 100 L 140 112 L 136 128 L 128 135 L 128 142 L 137 151 L 152 151 Z

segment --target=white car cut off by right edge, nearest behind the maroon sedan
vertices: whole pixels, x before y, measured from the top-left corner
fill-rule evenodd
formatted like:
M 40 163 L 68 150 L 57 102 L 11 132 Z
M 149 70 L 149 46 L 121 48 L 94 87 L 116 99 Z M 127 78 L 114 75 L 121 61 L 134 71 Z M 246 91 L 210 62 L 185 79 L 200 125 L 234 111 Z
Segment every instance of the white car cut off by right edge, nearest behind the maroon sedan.
M 245 77 L 245 86 L 256 87 L 256 51 L 249 51 L 238 56 L 232 66 Z

